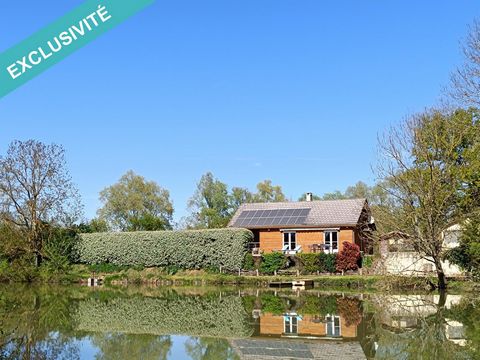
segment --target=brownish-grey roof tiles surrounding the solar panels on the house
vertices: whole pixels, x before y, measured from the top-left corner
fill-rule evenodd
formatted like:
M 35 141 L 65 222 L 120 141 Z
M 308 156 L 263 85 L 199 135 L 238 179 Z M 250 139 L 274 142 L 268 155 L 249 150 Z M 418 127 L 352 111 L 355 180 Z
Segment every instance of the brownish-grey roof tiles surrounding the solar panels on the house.
M 287 201 L 277 203 L 251 203 L 242 204 L 237 210 L 228 226 L 235 226 L 237 218 L 242 211 L 248 210 L 278 210 L 278 209 L 310 209 L 310 212 L 301 227 L 329 227 L 329 226 L 355 226 L 358 223 L 366 199 L 346 200 L 316 200 L 316 201 Z M 290 224 L 280 224 L 280 226 Z M 259 226 L 258 228 L 261 228 Z M 278 227 L 278 226 L 275 226 Z

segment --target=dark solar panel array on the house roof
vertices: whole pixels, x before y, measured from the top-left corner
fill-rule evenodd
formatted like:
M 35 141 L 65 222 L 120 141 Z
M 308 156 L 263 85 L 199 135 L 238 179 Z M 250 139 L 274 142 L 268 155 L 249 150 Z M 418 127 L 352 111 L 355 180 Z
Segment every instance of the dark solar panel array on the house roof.
M 245 210 L 233 224 L 236 227 L 302 225 L 310 209 Z

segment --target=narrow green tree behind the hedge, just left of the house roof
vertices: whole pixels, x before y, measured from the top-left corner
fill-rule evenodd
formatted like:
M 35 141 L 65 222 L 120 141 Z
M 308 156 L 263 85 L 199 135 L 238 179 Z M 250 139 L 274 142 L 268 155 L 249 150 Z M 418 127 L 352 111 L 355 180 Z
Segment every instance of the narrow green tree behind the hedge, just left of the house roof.
M 197 190 L 188 207 L 192 212 L 189 227 L 199 229 L 225 227 L 231 218 L 227 184 L 216 179 L 212 173 L 206 173 L 197 184 Z

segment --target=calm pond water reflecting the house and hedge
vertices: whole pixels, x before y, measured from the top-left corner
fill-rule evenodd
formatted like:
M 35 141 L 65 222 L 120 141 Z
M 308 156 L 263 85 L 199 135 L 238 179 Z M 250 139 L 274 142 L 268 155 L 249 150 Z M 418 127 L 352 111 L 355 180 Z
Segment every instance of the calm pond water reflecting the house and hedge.
M 476 352 L 477 351 L 477 352 Z M 2 286 L 1 359 L 476 359 L 480 300 Z

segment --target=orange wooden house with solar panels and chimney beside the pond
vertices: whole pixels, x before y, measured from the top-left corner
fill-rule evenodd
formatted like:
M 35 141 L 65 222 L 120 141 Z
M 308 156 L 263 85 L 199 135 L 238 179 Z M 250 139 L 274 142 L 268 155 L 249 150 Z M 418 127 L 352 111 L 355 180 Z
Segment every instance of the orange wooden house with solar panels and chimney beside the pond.
M 246 203 L 237 210 L 229 227 L 253 232 L 254 255 L 282 251 L 337 253 L 345 241 L 370 252 L 369 234 L 375 224 L 366 199 Z

